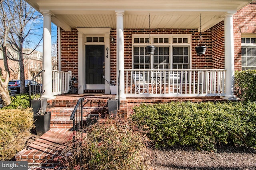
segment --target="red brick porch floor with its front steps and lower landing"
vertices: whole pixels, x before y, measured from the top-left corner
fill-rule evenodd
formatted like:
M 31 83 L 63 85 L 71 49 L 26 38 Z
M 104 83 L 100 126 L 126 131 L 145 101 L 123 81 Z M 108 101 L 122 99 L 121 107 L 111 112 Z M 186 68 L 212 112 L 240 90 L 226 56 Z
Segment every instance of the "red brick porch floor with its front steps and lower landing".
M 58 162 L 54 158 L 60 154 L 68 136 L 71 135 L 72 121 L 70 115 L 79 98 L 85 98 L 83 117 L 90 113 L 105 113 L 108 111 L 107 101 L 115 95 L 106 94 L 66 94 L 56 96 L 48 101 L 48 111 L 52 112 L 50 130 L 36 139 L 28 147 L 16 154 L 16 160 L 28 161 L 30 169 L 36 167 L 54 168 Z M 120 101 L 120 111 L 129 116 L 130 108 L 140 104 L 158 104 L 176 102 L 206 102 L 222 100 L 220 97 L 172 97 L 172 98 L 127 98 Z

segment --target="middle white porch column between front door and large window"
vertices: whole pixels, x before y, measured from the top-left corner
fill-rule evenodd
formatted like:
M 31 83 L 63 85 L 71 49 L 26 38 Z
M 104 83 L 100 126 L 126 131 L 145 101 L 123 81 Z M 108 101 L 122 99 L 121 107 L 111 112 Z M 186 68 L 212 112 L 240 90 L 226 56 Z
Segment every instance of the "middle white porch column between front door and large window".
M 116 82 L 120 70 L 120 99 L 126 99 L 124 94 L 124 11 L 116 11 Z M 118 97 L 118 86 L 116 86 Z

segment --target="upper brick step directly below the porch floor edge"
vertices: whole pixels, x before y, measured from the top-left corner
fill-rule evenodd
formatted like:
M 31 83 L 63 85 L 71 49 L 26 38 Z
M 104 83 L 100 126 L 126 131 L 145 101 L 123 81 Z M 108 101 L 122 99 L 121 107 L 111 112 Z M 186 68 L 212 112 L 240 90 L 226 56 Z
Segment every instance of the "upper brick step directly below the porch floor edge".
M 47 109 L 52 112 L 51 117 L 69 117 L 74 110 L 74 107 L 51 107 Z M 83 107 L 83 116 L 88 114 L 106 114 L 108 113 L 108 108 L 106 107 Z

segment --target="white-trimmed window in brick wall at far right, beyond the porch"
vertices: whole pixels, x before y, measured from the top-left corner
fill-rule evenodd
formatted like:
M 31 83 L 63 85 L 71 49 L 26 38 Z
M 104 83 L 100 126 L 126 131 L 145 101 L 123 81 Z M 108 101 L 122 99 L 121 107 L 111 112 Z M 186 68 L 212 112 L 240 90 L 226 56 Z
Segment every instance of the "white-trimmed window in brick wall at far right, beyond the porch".
M 242 35 L 242 70 L 256 70 L 256 34 Z

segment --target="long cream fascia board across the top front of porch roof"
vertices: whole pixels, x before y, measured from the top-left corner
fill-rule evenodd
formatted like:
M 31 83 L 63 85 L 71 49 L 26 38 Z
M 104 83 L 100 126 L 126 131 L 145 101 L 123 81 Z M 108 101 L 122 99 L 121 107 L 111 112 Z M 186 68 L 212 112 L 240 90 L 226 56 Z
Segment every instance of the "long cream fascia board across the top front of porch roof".
M 228 12 L 231 9 L 238 10 L 250 2 L 251 0 L 38 0 L 36 5 L 40 6 L 40 10 L 47 9 L 56 14 L 82 14 L 84 11 L 97 10 Z

